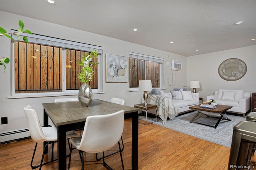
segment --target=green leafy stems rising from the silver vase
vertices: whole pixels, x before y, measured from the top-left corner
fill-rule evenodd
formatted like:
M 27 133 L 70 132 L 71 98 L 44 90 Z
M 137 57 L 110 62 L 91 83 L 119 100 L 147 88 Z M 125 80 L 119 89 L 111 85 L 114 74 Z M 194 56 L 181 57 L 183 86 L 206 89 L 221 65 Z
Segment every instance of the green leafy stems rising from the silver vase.
M 91 53 L 86 52 L 85 55 L 83 55 L 81 61 L 78 61 L 78 65 L 83 66 L 81 68 L 80 73 L 78 73 L 78 78 L 81 82 L 87 83 L 88 81 L 92 80 L 93 76 L 93 67 L 97 66 L 98 62 L 93 62 L 94 58 L 98 57 L 98 52 L 94 49 Z

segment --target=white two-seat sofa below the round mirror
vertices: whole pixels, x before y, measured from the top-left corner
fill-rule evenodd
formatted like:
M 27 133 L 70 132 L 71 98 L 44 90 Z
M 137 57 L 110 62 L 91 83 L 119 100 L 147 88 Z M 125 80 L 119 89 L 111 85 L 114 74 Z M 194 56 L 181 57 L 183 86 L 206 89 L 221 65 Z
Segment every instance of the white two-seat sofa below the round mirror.
M 251 93 L 243 90 L 225 90 L 215 91 L 214 95 L 207 96 L 207 101 L 214 99 L 217 105 L 232 106 L 227 112 L 238 113 L 246 116 L 250 112 Z

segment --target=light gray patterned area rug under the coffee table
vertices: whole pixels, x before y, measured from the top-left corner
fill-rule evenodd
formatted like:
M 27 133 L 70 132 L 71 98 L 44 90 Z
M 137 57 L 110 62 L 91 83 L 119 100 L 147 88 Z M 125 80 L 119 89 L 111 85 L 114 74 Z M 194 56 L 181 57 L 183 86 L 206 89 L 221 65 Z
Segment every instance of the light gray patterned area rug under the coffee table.
M 224 123 L 220 123 L 217 128 L 212 128 L 197 123 L 190 123 L 190 120 L 194 117 L 194 115 L 196 115 L 196 113 L 197 112 L 194 111 L 185 115 L 175 117 L 175 119 L 173 120 L 168 119 L 166 124 L 163 124 L 163 121 L 160 119 L 158 122 L 154 122 L 154 124 L 230 148 L 232 142 L 233 127 L 240 121 L 246 120 L 246 118 L 242 116 L 226 115 L 232 121 L 224 122 L 226 120 L 223 119 L 222 122 Z M 219 114 L 213 115 L 219 116 Z M 144 119 L 144 116 L 140 116 L 139 119 Z M 199 114 L 198 118 L 194 121 L 203 122 L 208 125 L 215 125 L 217 119 L 206 117 L 203 114 Z

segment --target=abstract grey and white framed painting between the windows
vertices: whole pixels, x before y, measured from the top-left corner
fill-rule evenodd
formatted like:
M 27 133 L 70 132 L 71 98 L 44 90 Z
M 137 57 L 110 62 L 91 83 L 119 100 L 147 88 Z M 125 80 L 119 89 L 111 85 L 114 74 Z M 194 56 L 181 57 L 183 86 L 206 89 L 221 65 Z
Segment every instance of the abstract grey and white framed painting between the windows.
M 106 82 L 128 82 L 129 57 L 106 54 Z

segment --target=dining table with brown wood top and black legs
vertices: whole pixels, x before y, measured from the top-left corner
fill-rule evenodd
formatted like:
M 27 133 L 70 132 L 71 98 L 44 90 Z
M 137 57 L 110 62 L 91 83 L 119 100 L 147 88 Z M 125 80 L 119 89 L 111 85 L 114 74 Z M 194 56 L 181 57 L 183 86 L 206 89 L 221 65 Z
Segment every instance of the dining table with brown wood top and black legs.
M 43 103 L 44 127 L 49 126 L 49 118 L 58 131 L 58 170 L 67 168 L 66 163 L 66 132 L 84 128 L 88 116 L 108 115 L 124 110 L 124 114 L 132 117 L 132 169 L 138 170 L 138 111 L 140 109 L 118 105 L 108 101 L 93 99 L 88 107 L 81 105 L 80 101 L 59 103 Z

